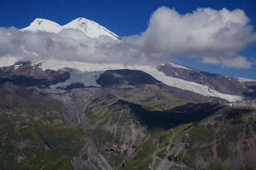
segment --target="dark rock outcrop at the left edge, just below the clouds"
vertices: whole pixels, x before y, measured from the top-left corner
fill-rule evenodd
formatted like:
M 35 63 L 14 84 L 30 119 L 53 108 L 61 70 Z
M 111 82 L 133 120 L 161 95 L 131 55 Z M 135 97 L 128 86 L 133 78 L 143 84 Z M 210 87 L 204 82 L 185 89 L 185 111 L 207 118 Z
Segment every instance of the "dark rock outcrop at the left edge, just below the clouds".
M 31 62 L 17 62 L 15 65 L 0 68 L 0 84 L 12 82 L 15 85 L 38 86 L 47 88 L 49 85 L 55 85 L 64 82 L 70 78 L 67 71 L 43 71 L 39 66 L 32 65 Z

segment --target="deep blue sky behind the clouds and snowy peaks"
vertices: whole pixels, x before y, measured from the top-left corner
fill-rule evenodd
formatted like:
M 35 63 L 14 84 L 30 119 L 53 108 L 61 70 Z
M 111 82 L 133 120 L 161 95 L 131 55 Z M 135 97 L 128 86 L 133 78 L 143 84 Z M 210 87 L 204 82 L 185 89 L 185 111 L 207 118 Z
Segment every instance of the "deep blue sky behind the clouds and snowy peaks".
M 255 0 L 110 0 L 110 1 L 70 1 L 70 0 L 1 0 L 0 26 L 24 28 L 35 18 L 52 20 L 60 25 L 69 23 L 78 17 L 85 17 L 105 26 L 119 36 L 140 34 L 148 27 L 152 12 L 160 6 L 175 8 L 180 14 L 191 13 L 198 7 L 210 7 L 216 10 L 227 8 L 232 11 L 242 9 L 256 27 Z M 239 55 L 247 59 L 256 59 L 256 43 L 247 45 Z M 201 64 L 198 59 L 176 57 L 176 61 L 202 71 L 256 79 L 256 66 L 251 69 L 222 68 L 220 65 Z

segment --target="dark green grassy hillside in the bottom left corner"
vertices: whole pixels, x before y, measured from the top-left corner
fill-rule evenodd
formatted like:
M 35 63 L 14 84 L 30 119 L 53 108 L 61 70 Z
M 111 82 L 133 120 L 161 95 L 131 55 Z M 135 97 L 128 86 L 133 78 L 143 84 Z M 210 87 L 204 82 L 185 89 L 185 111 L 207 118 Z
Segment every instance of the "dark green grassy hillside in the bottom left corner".
M 56 111 L 12 108 L 0 112 L 1 170 L 71 170 L 86 136 L 64 126 Z M 80 141 L 80 143 L 77 143 Z

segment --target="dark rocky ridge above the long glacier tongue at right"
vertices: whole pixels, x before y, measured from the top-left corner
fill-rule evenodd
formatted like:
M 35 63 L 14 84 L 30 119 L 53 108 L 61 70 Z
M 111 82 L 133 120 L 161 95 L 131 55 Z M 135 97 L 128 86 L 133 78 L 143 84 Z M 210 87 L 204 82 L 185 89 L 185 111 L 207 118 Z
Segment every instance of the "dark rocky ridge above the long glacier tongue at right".
M 221 74 L 212 74 L 205 71 L 199 71 L 194 68 L 177 68 L 166 63 L 158 68 L 169 77 L 184 79 L 190 82 L 196 82 L 201 85 L 207 85 L 215 91 L 223 94 L 232 94 L 238 96 L 255 97 L 256 82 L 239 82 L 235 77 L 226 77 Z

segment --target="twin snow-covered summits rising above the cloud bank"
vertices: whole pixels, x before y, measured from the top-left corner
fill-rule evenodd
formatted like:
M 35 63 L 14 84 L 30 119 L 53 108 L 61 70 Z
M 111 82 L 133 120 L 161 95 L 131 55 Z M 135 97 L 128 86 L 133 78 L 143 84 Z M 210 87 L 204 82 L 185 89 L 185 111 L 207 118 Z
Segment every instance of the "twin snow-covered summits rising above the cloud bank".
M 67 23 L 64 26 L 60 26 L 50 20 L 45 20 L 41 18 L 35 19 L 28 27 L 21 29 L 21 31 L 47 31 L 58 33 L 63 29 L 73 28 L 83 31 L 88 37 L 97 38 L 101 35 L 106 35 L 112 37 L 114 40 L 121 40 L 121 37 L 109 31 L 104 26 L 86 18 L 77 18 L 76 20 Z

